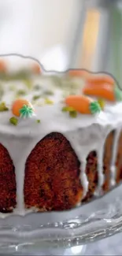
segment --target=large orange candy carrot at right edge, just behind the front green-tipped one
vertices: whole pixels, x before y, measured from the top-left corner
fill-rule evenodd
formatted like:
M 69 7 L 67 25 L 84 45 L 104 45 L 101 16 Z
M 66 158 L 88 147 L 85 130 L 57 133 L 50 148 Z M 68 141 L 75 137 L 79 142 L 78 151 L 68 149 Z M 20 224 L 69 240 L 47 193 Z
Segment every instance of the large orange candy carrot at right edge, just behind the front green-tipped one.
M 102 83 L 99 85 L 93 85 L 87 83 L 83 88 L 84 95 L 90 95 L 97 98 L 104 98 L 110 102 L 116 102 L 122 100 L 121 91 L 117 87 L 112 87 L 109 83 Z

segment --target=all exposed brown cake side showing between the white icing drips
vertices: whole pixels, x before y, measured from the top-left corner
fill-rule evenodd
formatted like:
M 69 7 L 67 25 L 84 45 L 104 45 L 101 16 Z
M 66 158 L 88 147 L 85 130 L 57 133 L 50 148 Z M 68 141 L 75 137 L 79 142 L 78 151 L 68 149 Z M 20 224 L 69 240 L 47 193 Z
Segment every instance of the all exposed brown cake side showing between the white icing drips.
M 103 169 L 104 191 L 109 191 L 110 162 L 115 132 L 105 140 Z M 122 180 L 122 133 L 116 157 L 116 182 Z M 88 202 L 98 186 L 98 157 L 95 151 L 87 156 L 89 181 L 83 202 Z M 63 135 L 53 132 L 46 135 L 31 151 L 25 165 L 24 202 L 27 208 L 43 210 L 69 210 L 80 202 L 83 187 L 79 180 L 79 160 Z M 16 207 L 16 178 L 9 152 L 0 144 L 0 212 L 9 213 Z

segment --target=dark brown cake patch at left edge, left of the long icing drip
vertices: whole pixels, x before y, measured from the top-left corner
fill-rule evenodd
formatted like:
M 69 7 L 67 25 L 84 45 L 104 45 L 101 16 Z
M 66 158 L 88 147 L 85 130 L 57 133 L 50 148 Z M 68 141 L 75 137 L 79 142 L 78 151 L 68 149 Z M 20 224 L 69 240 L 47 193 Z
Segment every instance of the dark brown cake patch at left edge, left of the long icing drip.
M 10 213 L 16 207 L 16 177 L 8 150 L 0 143 L 0 212 Z

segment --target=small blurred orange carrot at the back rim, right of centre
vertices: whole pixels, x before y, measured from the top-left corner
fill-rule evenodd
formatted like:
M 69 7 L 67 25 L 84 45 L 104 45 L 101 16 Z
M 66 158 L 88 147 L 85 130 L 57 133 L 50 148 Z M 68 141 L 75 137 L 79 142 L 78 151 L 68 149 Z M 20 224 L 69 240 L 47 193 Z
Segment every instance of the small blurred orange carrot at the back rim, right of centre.
M 70 69 L 68 71 L 68 76 L 87 78 L 90 76 L 90 73 L 85 69 Z

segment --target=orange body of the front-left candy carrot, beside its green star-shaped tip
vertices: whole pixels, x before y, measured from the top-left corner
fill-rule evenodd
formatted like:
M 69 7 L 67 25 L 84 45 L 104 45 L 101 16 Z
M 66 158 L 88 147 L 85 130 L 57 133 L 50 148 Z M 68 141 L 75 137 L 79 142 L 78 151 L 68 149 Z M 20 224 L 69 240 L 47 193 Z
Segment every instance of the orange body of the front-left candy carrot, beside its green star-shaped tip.
M 17 99 L 13 102 L 13 106 L 12 106 L 12 112 L 13 112 L 13 115 L 16 116 L 16 117 L 20 117 L 20 109 L 24 106 L 31 106 L 31 103 L 28 102 L 28 100 L 26 99 Z

